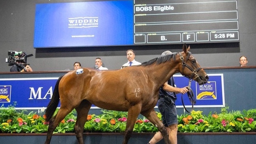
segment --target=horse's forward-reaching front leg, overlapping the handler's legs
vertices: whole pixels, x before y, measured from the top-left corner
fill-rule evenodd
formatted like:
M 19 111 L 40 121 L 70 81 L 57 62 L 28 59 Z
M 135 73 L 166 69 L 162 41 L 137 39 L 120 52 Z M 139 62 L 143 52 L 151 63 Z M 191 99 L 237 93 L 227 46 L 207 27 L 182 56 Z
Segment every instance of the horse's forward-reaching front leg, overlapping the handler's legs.
M 168 138 L 167 130 L 166 130 L 165 126 L 163 125 L 163 123 L 158 118 L 158 116 L 156 115 L 156 111 L 154 110 L 154 108 L 149 109 L 147 111 L 143 111 L 143 112 L 141 112 L 141 114 L 143 116 L 145 116 L 146 118 L 148 118 L 149 121 L 151 123 L 153 123 L 156 126 L 156 128 L 158 128 L 158 130 L 163 135 L 165 144 L 171 144 L 170 139 Z

